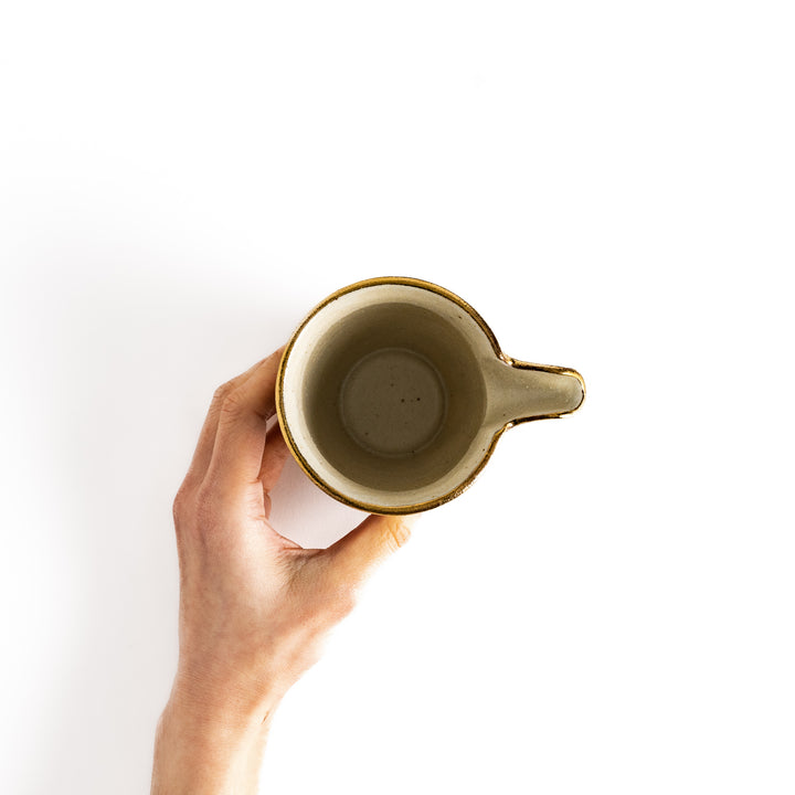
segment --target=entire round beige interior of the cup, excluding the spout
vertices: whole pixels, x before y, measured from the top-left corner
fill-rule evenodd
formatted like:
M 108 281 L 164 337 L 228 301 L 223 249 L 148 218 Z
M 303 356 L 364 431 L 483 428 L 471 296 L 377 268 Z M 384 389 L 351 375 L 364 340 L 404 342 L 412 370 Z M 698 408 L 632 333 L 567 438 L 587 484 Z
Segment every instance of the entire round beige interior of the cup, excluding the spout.
M 473 319 L 444 296 L 391 287 L 332 301 L 298 332 L 284 418 L 327 486 L 394 508 L 468 476 L 459 469 L 481 431 L 486 386 Z

